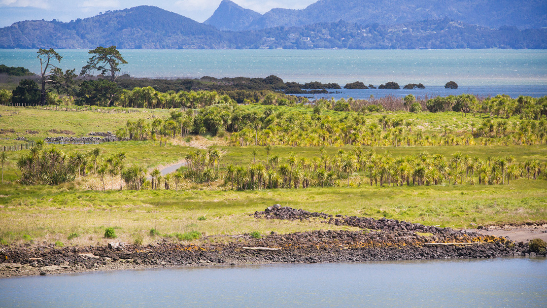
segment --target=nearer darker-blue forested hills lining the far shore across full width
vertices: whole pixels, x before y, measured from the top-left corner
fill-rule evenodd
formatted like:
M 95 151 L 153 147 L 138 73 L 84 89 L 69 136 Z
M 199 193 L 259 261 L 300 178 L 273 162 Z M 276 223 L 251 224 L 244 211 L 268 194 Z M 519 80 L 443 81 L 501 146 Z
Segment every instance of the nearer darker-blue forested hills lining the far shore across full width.
M 231 1 L 223 3 L 217 17 L 226 11 L 246 16 L 240 26 L 263 16 L 256 19 L 256 12 Z M 219 19 L 210 19 L 215 20 Z M 225 25 L 236 26 L 229 21 Z M 547 29 L 495 30 L 444 18 L 388 25 L 339 20 L 236 32 L 147 5 L 71 22 L 20 21 L 0 28 L 0 48 L 93 49 L 110 45 L 118 49 L 547 49 Z

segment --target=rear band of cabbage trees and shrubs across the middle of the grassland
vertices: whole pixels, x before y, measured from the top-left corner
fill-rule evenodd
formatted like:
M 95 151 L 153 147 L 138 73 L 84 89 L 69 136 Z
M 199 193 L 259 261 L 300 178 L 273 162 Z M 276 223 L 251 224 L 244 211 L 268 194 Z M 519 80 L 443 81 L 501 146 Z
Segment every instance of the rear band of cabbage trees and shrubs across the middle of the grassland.
M 318 100 L 313 104 L 287 108 L 276 106 L 241 106 L 233 101 L 213 104 L 199 109 L 172 111 L 167 118 L 154 118 L 152 121 L 140 119 L 128 121 L 117 131 L 121 140 L 158 140 L 162 137 L 187 137 L 188 135 L 208 134 L 226 137 L 238 146 L 453 146 L 469 144 L 543 144 L 547 142 L 547 121 L 541 118 L 544 98 L 520 97 L 512 100 L 507 97 L 494 97 L 476 100 L 474 96 L 434 98 L 430 101 L 443 101 L 446 108 L 456 110 L 461 101 L 474 102 L 471 110 L 484 120 L 474 121 L 462 129 L 449 126 L 436 130 L 426 130 L 421 123 L 405 117 L 404 114 L 371 113 L 383 111 L 383 106 L 395 104 L 391 97 L 377 101 L 356 100 Z M 451 100 L 453 98 L 453 100 Z M 473 99 L 474 98 L 474 99 Z M 499 98 L 508 103 L 507 112 L 521 112 L 522 119 L 497 117 Z M 375 102 L 377 104 L 371 104 Z M 412 97 L 405 97 L 400 104 L 411 112 L 420 112 L 422 103 Z M 449 105 L 453 103 L 452 105 Z M 522 102 L 522 103 L 521 103 Z M 392 106 L 393 106 L 392 105 Z M 452 106 L 452 107 L 450 107 Z M 476 109 L 475 109 L 476 108 Z M 361 112 L 353 112 L 359 109 Z M 447 109 L 446 111 L 448 111 Z M 486 116 L 484 113 L 486 112 Z M 490 117 L 490 113 L 493 117 Z M 364 114 L 367 114 L 366 117 Z M 541 119 L 540 119 L 541 118 Z M 540 120 L 538 120 L 540 119 Z M 476 123 L 480 123 L 479 125 Z

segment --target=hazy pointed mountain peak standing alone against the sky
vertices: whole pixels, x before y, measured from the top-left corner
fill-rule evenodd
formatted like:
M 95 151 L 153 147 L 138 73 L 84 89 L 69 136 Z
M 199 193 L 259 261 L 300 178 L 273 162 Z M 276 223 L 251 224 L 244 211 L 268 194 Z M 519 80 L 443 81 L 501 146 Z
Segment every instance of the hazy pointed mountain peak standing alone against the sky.
M 261 16 L 262 14 L 244 9 L 230 0 L 222 0 L 217 10 L 203 24 L 215 26 L 219 30 L 242 31 L 247 30 Z

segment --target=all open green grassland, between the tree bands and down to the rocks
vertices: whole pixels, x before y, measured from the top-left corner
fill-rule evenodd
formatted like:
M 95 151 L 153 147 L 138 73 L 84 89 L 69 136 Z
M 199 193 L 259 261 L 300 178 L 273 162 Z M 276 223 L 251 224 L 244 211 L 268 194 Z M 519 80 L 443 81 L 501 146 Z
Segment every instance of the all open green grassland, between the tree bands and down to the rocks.
M 249 108 L 264 108 L 253 106 Z M 114 109 L 110 109 L 111 111 Z M 117 111 L 116 111 L 117 112 Z M 142 110 L 136 113 L 108 113 L 98 111 L 67 112 L 32 108 L 0 107 L 0 129 L 13 129 L 5 133 L 0 144 L 14 142 L 15 136 L 29 139 L 58 136 L 52 129 L 74 132 L 83 136 L 90 131 L 115 131 L 127 120 L 167 117 L 166 110 Z M 336 115 L 333 113 L 333 116 Z M 482 119 L 463 117 L 456 113 L 395 114 L 412 118 L 415 123 L 429 125 L 432 130 L 450 125 L 455 130 L 467 129 L 472 122 Z M 392 115 L 390 115 L 392 116 Z M 378 115 L 367 115 L 376 119 Z M 28 131 L 37 131 L 31 133 Z M 226 146 L 225 140 L 198 137 L 203 148 L 218 144 L 222 152 L 220 164 L 245 165 L 253 160 L 265 161 L 264 147 Z M 20 143 L 20 142 L 19 142 Z M 12 143 L 13 144 L 13 143 Z M 178 145 L 183 144 L 183 145 Z M 198 144 L 199 145 L 199 144 Z M 194 144 L 195 146 L 195 144 Z M 126 154 L 126 165 L 137 164 L 146 168 L 181 161 L 190 151 L 189 143 L 171 140 L 167 146 L 154 141 L 113 142 L 100 145 L 58 145 L 65 153 L 89 152 L 95 147 L 109 156 L 118 152 Z M 334 155 L 340 148 L 327 147 L 325 154 Z M 350 152 L 353 147 L 342 147 Z M 368 150 L 369 147 L 363 147 Z M 453 153 L 478 156 L 513 155 L 517 162 L 525 160 L 547 161 L 547 146 L 430 146 L 430 147 L 375 147 L 377 153 L 392 156 L 420 153 Z M 256 155 L 253 155 L 256 151 Z M 342 228 L 314 222 L 286 222 L 257 220 L 249 216 L 272 204 L 281 204 L 309 211 L 329 214 L 347 214 L 374 218 L 395 218 L 428 225 L 468 228 L 486 224 L 521 224 L 547 222 L 547 185 L 545 180 L 521 178 L 509 185 L 437 185 L 422 187 L 329 187 L 307 189 L 272 189 L 255 191 L 226 191 L 206 185 L 192 189 L 174 190 L 88 190 L 87 178 L 58 186 L 22 185 L 16 161 L 27 151 L 8 152 L 4 166 L 4 179 L 0 184 L 0 241 L 17 243 L 25 241 L 61 241 L 69 245 L 95 245 L 106 243 L 104 229 L 114 227 L 120 240 L 132 242 L 139 236 L 145 242 L 154 241 L 150 229 L 162 235 L 185 233 L 191 230 L 207 235 L 242 234 L 252 231 L 290 233 L 310 229 Z M 298 158 L 320 155 L 316 147 L 272 147 L 270 157 L 279 155 L 282 160 L 294 153 Z M 217 183 L 218 184 L 218 183 Z M 114 187 L 117 185 L 114 182 Z M 198 220 L 205 217 L 205 220 Z M 347 229 L 347 228 L 346 228 Z M 69 235 L 78 234 L 68 240 Z

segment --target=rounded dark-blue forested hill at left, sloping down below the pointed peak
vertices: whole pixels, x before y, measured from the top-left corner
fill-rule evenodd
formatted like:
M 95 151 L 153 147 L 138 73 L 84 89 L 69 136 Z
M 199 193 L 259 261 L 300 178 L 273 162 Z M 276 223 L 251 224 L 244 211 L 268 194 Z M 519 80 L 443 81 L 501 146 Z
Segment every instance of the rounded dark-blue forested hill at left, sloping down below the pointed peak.
M 20 21 L 0 29 L 1 48 L 233 48 L 216 28 L 142 5 L 71 22 Z

